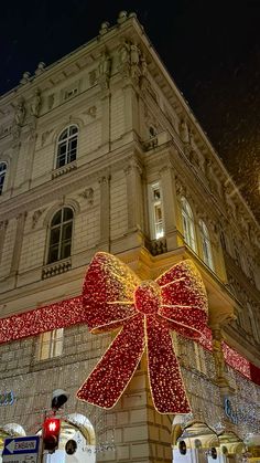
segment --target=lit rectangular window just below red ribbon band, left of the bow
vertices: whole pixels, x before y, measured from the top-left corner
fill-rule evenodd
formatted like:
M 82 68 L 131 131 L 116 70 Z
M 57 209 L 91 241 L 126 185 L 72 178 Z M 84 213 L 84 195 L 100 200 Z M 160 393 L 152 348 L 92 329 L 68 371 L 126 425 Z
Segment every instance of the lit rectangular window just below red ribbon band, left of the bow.
M 46 332 L 40 335 L 37 345 L 37 359 L 47 360 L 59 357 L 63 352 L 63 328 Z

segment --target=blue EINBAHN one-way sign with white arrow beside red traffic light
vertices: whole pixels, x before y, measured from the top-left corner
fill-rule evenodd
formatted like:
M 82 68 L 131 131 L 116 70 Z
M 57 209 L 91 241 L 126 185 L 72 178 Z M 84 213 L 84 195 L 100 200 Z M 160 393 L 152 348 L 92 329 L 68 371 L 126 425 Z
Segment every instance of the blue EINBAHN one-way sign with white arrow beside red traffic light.
M 4 441 L 2 456 L 4 455 L 37 455 L 40 448 L 39 435 L 26 435 L 25 438 L 8 438 Z M 3 460 L 4 461 L 4 460 Z

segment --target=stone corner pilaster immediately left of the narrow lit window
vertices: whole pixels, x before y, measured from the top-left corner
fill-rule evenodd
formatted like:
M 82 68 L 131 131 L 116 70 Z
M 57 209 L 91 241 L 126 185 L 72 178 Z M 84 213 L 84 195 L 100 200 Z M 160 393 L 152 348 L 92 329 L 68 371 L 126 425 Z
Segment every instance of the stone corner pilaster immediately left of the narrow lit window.
M 143 194 L 142 194 L 142 169 L 136 158 L 130 159 L 124 169 L 127 176 L 128 194 L 128 232 L 143 230 Z

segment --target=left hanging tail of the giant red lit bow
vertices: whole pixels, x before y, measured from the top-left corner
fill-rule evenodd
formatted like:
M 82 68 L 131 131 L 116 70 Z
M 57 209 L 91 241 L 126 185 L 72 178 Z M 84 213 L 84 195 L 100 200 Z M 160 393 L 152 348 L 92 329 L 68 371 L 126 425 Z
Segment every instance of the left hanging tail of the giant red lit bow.
M 124 324 L 77 391 L 78 399 L 101 408 L 112 408 L 131 380 L 144 347 L 144 320 L 140 314 Z

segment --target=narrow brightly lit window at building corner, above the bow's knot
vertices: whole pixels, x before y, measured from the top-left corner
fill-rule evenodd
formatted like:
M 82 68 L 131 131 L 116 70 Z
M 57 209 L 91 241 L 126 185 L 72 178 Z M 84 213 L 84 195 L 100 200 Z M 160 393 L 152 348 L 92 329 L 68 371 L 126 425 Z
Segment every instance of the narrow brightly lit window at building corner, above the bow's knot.
M 150 186 L 150 228 L 151 235 L 159 240 L 164 235 L 162 190 L 160 182 Z

